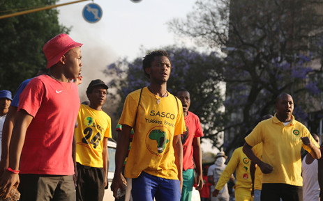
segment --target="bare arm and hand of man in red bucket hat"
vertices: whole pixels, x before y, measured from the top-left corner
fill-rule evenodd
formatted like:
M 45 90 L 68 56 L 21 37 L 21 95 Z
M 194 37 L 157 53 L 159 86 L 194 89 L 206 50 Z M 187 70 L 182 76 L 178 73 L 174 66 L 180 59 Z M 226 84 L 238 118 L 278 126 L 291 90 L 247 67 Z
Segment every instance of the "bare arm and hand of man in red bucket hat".
M 24 145 L 24 138 L 31 120 L 33 120 L 33 117 L 26 111 L 20 110 L 17 112 L 9 147 L 9 167 L 13 170 L 19 170 L 20 155 Z M 3 172 L 3 176 L 0 180 L 0 188 L 7 189 L 4 196 L 5 198 L 8 198 L 8 193 L 10 193 L 11 188 L 18 185 L 19 176 L 17 174 L 13 174 L 13 172 L 9 171 Z

